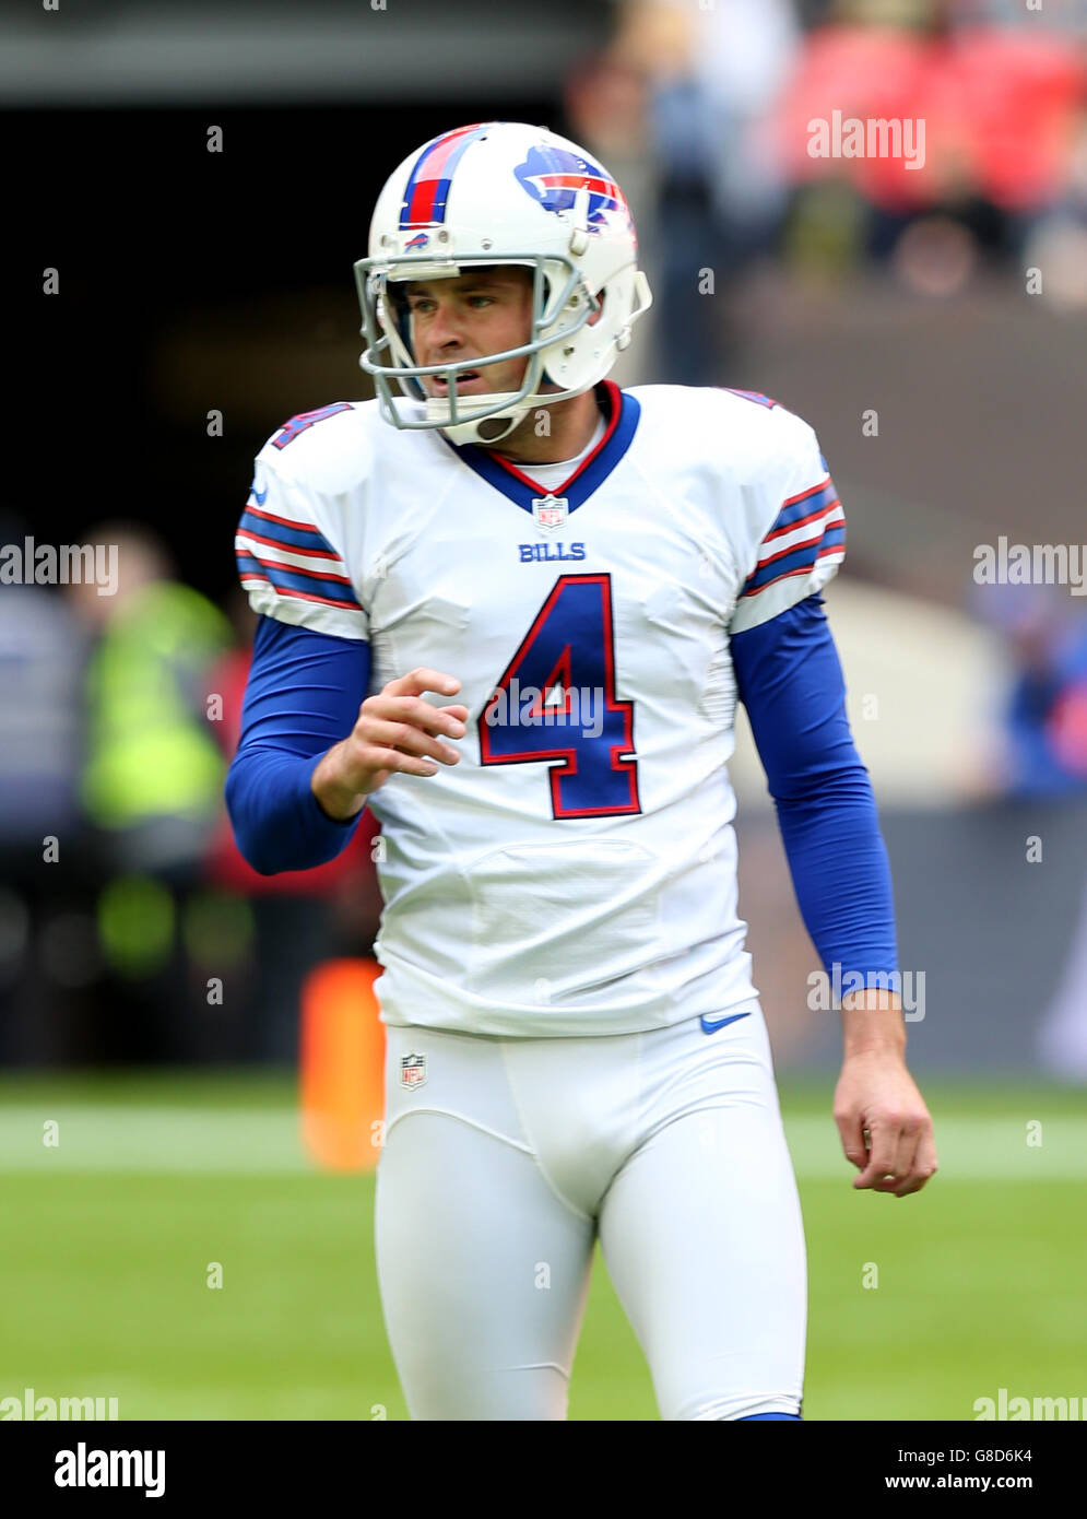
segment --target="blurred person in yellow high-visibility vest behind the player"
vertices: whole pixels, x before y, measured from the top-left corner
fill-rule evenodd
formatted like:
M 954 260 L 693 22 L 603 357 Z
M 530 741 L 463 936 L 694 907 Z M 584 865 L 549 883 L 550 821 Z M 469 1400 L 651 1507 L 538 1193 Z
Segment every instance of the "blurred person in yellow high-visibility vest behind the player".
M 231 627 L 206 597 L 175 579 L 153 530 L 108 523 L 85 541 L 105 545 L 117 567 L 106 594 L 90 582 L 68 588 L 91 638 L 80 802 L 111 978 L 94 1054 L 214 1059 L 229 1018 L 210 1006 L 206 955 L 196 940 L 216 921 L 202 867 L 226 767 L 214 732 L 222 699 L 210 676 Z M 220 958 L 226 963 L 226 949 Z

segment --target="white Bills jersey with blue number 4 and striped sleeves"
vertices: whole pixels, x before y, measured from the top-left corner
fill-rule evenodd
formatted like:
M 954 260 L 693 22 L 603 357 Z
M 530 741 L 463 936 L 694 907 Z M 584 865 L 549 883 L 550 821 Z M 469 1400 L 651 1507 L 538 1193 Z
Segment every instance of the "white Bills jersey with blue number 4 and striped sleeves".
M 750 392 L 598 387 L 600 444 L 547 491 L 375 401 L 279 428 L 237 538 L 254 611 L 367 639 L 369 693 L 460 681 L 460 764 L 393 775 L 384 1018 L 636 1033 L 755 996 L 729 784 L 733 632 L 844 557 L 812 428 Z M 416 403 L 407 398 L 404 407 Z

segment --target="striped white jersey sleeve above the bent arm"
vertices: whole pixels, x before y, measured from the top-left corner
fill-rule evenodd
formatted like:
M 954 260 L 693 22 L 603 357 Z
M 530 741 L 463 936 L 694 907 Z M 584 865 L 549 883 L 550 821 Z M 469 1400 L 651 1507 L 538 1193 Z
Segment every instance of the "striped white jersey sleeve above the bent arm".
M 305 413 L 317 415 L 317 413 Z M 352 583 L 334 512 L 304 488 L 276 454 L 299 419 L 257 454 L 254 483 L 234 548 L 254 612 L 339 638 L 369 638 L 369 617 Z

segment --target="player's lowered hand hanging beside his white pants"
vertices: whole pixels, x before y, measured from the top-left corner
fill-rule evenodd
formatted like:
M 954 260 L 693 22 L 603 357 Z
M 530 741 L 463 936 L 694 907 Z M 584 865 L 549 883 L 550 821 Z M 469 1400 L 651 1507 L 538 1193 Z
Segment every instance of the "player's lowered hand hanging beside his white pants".
M 847 1054 L 833 1094 L 846 1157 L 861 1171 L 859 1191 L 920 1192 L 937 1170 L 932 1118 L 899 1050 Z

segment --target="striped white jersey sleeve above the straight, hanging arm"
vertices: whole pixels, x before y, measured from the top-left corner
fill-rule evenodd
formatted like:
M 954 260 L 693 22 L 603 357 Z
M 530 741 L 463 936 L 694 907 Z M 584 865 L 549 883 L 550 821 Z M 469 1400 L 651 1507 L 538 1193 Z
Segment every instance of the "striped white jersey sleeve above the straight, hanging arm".
M 846 557 L 846 513 L 814 428 L 767 398 L 758 401 L 774 407 L 779 436 L 761 489 L 748 497 L 755 542 L 730 633 L 758 627 L 820 591 Z

